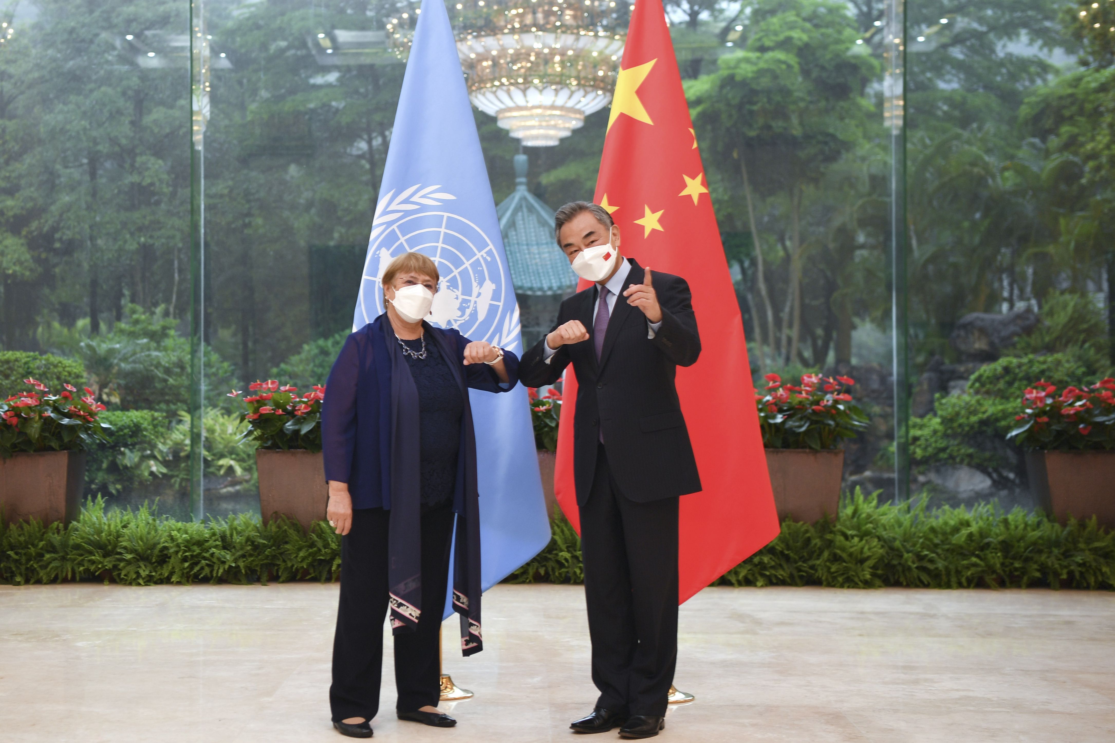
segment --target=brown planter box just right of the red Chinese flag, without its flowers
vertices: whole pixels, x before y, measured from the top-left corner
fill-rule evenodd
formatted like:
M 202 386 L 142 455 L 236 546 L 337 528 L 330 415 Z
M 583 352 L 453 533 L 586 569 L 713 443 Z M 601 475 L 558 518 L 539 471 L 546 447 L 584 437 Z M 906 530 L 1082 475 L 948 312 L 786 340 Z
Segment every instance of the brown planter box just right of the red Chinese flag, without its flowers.
M 844 450 L 766 449 L 778 518 L 813 524 L 836 516 Z

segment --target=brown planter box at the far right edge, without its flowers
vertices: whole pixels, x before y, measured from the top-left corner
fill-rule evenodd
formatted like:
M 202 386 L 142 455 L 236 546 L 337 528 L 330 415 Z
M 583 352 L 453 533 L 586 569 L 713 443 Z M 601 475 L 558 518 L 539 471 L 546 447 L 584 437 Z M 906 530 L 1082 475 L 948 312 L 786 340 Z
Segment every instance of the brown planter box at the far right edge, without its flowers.
M 1093 516 L 1115 529 L 1115 451 L 1027 451 L 1038 507 L 1064 524 Z

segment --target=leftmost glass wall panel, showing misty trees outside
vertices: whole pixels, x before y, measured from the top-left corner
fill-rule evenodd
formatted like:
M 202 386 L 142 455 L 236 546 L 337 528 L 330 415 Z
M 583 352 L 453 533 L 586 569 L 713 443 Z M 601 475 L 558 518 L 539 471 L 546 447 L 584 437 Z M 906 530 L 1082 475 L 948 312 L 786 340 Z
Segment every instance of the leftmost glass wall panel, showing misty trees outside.
M 190 40 L 182 0 L 0 11 L 0 394 L 88 387 L 87 496 L 185 515 Z M 40 356 L 39 354 L 49 354 Z

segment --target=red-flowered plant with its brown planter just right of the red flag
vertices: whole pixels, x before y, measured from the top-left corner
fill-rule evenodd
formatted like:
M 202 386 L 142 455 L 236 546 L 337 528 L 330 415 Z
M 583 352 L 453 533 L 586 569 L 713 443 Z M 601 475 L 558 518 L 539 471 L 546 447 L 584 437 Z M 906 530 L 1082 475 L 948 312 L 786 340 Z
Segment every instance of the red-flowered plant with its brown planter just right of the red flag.
M 844 470 L 840 442 L 867 427 L 847 392 L 855 380 L 803 374 L 801 387 L 783 384 L 778 374 L 766 380 L 755 402 L 778 518 L 812 524 L 836 516 Z

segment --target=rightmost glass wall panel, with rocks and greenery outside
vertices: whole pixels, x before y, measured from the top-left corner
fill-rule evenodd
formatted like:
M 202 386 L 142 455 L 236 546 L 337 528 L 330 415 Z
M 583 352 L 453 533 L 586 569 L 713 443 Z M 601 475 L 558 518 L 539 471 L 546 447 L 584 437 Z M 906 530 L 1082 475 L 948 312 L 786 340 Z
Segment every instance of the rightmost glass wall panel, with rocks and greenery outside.
M 1024 391 L 1111 374 L 1111 3 L 911 0 L 913 488 L 1034 507 Z M 1021 421 L 1025 423 L 1025 420 Z M 1072 416 L 1038 421 L 1087 446 Z M 1093 442 L 1094 446 L 1094 442 Z

